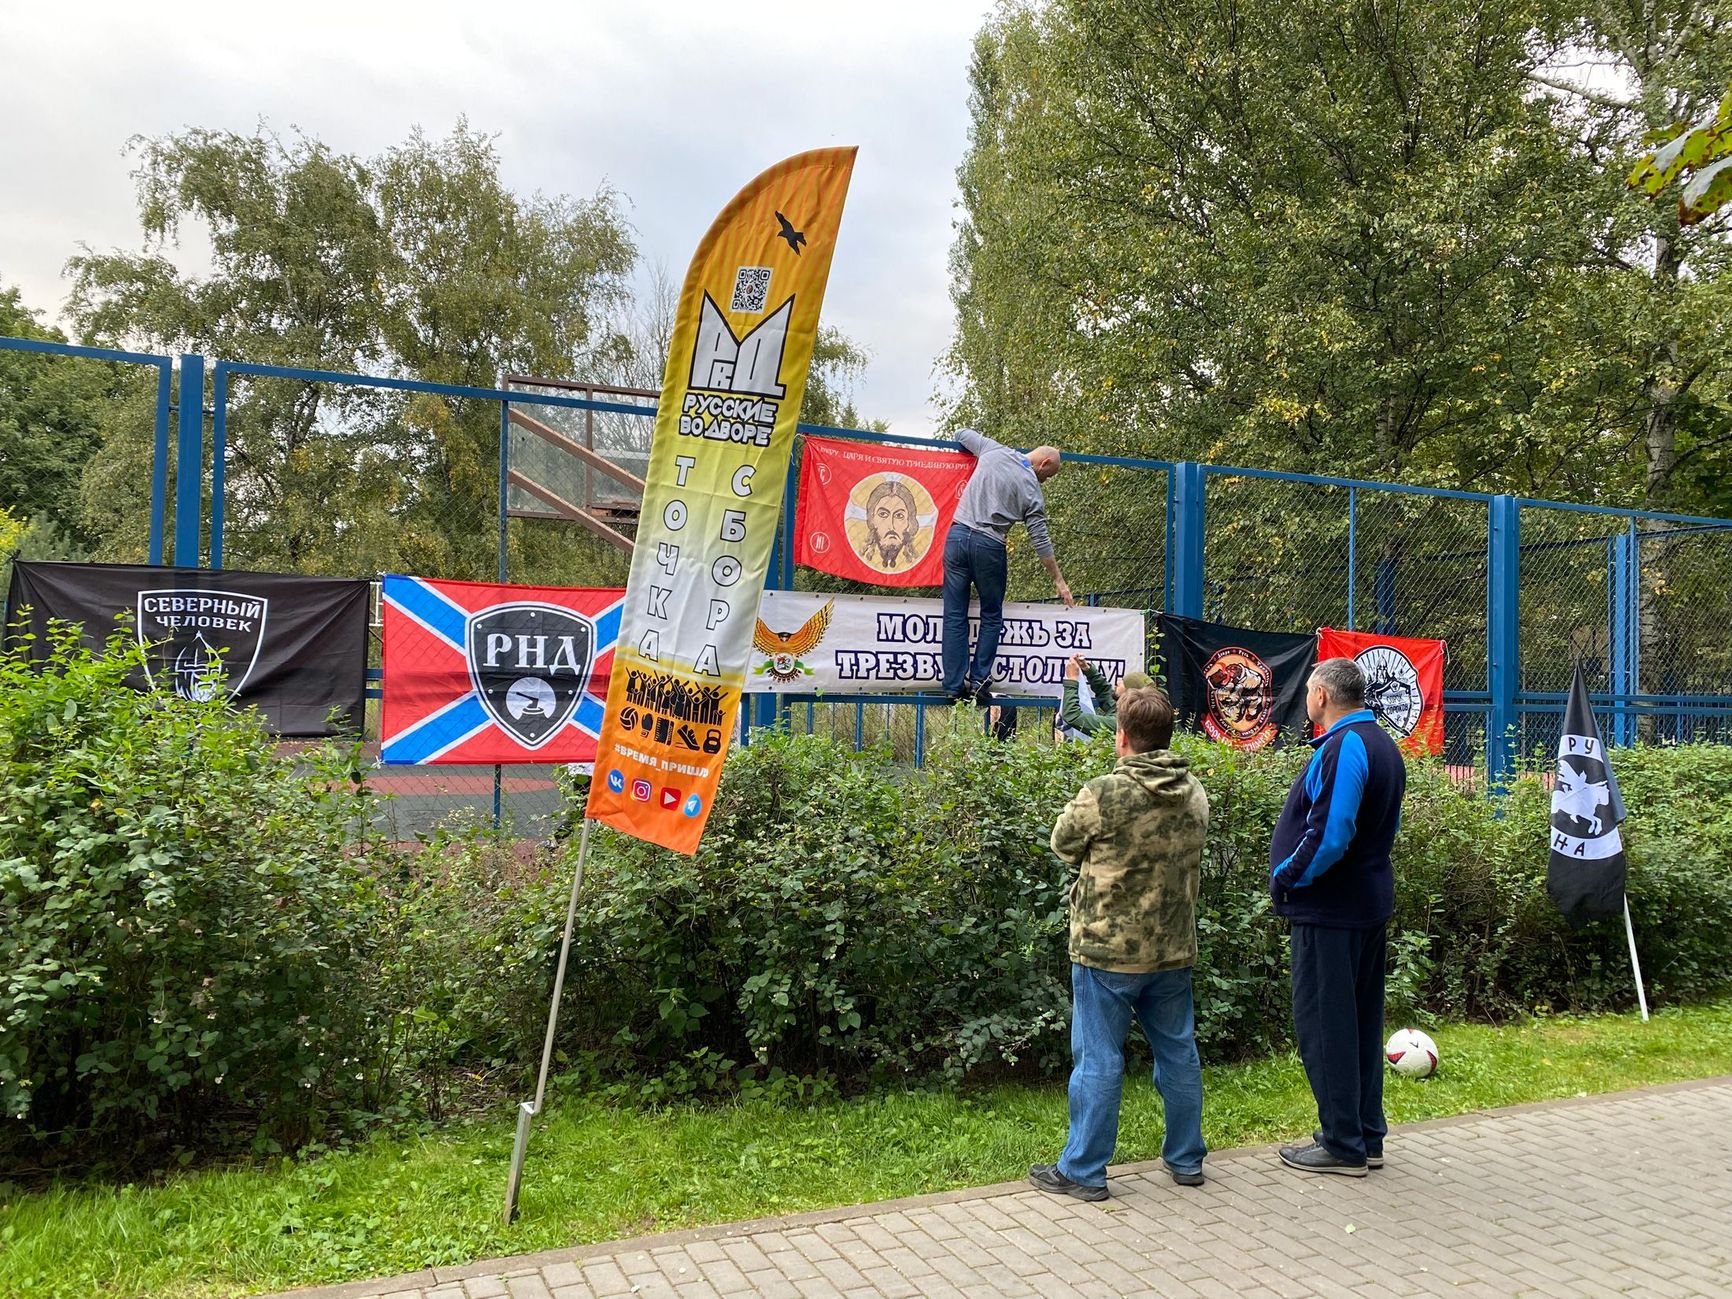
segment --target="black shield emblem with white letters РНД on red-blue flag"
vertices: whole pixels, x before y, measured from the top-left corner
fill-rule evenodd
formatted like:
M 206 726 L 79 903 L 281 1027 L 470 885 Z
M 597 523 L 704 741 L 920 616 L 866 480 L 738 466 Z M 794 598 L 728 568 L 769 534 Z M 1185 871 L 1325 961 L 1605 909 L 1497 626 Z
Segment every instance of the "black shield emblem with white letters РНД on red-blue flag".
M 469 615 L 464 653 L 487 715 L 525 748 L 540 748 L 577 712 L 596 625 L 558 604 L 494 604 Z

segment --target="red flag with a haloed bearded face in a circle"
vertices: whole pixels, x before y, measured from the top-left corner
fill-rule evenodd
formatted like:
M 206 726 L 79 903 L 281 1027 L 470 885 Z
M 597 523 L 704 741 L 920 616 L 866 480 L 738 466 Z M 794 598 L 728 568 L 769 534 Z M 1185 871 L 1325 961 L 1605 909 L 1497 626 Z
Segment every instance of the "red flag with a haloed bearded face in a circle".
M 958 452 L 807 438 L 795 563 L 882 587 L 944 584 L 944 533 L 975 459 Z

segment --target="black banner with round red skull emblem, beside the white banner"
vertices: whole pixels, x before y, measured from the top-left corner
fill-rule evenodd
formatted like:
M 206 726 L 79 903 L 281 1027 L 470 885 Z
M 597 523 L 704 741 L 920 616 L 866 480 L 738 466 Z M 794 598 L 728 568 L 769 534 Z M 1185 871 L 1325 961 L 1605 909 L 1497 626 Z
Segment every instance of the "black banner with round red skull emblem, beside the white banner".
M 1304 682 L 1316 637 L 1160 613 L 1160 681 L 1178 724 L 1256 750 L 1308 734 Z

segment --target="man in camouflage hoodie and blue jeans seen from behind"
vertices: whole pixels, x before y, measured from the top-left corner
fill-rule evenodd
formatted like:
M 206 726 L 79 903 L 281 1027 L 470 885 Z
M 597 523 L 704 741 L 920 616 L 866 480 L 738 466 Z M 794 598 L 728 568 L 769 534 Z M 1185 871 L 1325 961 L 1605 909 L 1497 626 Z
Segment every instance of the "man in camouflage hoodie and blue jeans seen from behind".
M 1181 1186 L 1202 1185 L 1202 1065 L 1192 966 L 1209 797 L 1167 752 L 1173 705 L 1154 686 L 1119 698 L 1119 766 L 1077 790 L 1053 826 L 1070 885 L 1070 1138 L 1029 1181 L 1107 1199 L 1119 1138 L 1124 1039 L 1134 1018 L 1155 1053 L 1166 1112 L 1160 1157 Z

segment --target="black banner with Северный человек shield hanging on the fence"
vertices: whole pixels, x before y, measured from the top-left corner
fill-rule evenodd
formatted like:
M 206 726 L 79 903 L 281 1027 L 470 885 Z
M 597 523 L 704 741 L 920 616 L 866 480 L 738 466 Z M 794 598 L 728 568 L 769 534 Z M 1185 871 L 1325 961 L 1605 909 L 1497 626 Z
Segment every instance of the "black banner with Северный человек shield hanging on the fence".
M 48 622 L 74 622 L 94 650 L 116 617 L 132 615 L 145 644 L 145 681 L 187 698 L 216 689 L 258 708 L 281 736 L 352 733 L 367 688 L 367 584 L 360 578 L 242 573 L 232 568 L 154 568 L 19 561 L 7 596 L 5 644 L 47 656 Z M 220 658 L 222 681 L 210 670 Z

